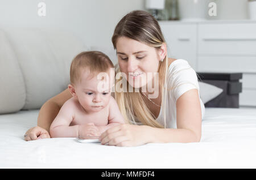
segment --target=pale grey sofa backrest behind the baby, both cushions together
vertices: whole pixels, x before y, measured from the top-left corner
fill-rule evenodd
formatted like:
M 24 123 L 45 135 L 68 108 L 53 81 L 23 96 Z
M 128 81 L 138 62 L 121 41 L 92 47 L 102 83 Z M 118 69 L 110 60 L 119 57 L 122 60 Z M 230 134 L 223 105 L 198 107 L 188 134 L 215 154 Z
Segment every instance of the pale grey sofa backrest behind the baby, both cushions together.
M 56 28 L 0 29 L 0 114 L 40 109 L 67 88 L 76 54 L 88 50 Z

